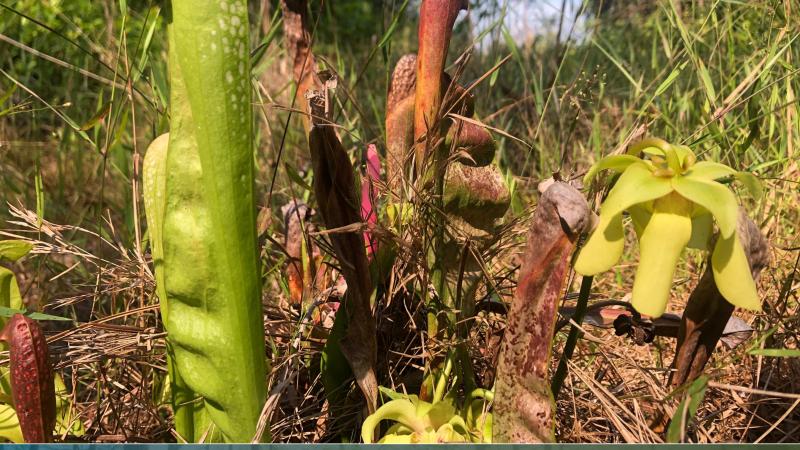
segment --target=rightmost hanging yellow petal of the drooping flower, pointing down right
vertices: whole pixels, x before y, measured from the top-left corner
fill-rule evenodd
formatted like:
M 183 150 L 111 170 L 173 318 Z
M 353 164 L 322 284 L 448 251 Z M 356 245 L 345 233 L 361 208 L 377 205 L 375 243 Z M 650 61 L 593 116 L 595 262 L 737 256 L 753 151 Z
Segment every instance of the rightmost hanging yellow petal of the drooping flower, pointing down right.
M 711 269 L 717 288 L 725 300 L 740 308 L 761 311 L 761 299 L 738 232 L 728 238 L 720 236 L 717 239 L 711 255 Z

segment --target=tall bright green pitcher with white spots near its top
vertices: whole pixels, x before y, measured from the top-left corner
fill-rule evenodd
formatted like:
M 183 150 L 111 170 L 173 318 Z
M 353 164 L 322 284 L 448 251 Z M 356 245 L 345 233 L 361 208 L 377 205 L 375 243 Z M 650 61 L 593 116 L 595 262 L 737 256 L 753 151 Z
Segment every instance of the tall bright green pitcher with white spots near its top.
M 143 176 L 176 428 L 187 440 L 250 442 L 267 365 L 247 2 L 173 0 L 169 41 L 170 133 L 151 145 Z

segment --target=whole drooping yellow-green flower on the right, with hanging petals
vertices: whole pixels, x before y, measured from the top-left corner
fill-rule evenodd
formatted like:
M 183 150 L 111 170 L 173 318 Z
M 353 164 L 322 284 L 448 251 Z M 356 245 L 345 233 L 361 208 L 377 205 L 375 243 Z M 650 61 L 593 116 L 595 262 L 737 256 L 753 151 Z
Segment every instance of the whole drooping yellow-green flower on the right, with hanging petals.
M 644 154 L 640 158 L 638 154 Z M 713 224 L 719 228 L 711 265 L 720 293 L 735 306 L 760 310 L 755 281 L 736 232 L 738 203 L 720 180 L 742 182 L 755 197 L 761 195 L 758 179 L 724 164 L 697 161 L 685 145 L 645 139 L 627 154 L 598 161 L 586 174 L 588 185 L 602 170 L 620 176 L 600 207 L 600 220 L 575 262 L 582 275 L 610 269 L 622 256 L 623 212 L 627 211 L 639 240 L 639 268 L 633 284 L 632 304 L 637 311 L 661 316 L 685 247 L 708 249 Z

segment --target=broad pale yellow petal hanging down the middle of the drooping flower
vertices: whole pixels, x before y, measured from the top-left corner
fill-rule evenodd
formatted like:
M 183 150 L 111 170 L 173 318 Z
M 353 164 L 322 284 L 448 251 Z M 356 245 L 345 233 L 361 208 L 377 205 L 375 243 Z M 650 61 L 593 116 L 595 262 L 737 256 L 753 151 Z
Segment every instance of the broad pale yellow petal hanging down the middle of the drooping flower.
M 692 235 L 691 204 L 675 197 L 656 202 L 639 240 L 639 268 L 633 282 L 631 304 L 651 317 L 664 314 L 675 266 Z

